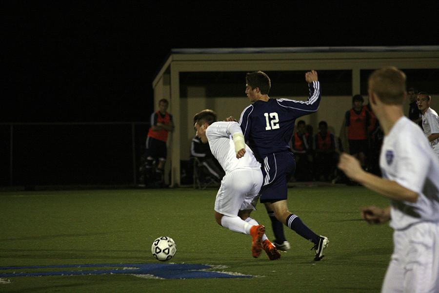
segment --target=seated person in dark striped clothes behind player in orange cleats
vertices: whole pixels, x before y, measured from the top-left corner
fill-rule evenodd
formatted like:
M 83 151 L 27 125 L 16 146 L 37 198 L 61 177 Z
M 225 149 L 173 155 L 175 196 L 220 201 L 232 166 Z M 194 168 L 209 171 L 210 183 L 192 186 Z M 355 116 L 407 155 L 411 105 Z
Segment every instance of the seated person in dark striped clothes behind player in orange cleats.
M 195 136 L 191 142 L 191 157 L 196 157 L 200 165 L 206 168 L 208 174 L 216 181 L 220 182 L 224 176 L 224 170 L 218 163 L 217 159 L 210 151 L 209 143 L 203 144 L 198 136 Z M 201 178 L 203 178 L 202 176 Z

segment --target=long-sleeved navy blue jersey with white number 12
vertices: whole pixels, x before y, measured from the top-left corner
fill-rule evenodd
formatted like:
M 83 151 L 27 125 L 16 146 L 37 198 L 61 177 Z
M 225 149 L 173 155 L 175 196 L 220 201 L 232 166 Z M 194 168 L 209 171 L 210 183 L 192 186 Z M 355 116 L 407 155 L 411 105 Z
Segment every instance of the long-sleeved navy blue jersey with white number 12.
M 308 86 L 308 101 L 259 100 L 242 111 L 239 125 L 247 145 L 259 162 L 271 153 L 289 150 L 296 119 L 318 110 L 321 99 L 320 83 L 317 81 Z

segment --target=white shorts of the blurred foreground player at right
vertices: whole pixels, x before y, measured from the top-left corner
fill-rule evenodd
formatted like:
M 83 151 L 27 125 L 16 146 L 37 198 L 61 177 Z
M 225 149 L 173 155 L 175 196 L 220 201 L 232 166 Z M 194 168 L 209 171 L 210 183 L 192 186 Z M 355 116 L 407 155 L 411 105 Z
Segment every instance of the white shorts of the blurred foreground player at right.
M 439 223 L 395 230 L 393 242 L 381 292 L 439 292 Z

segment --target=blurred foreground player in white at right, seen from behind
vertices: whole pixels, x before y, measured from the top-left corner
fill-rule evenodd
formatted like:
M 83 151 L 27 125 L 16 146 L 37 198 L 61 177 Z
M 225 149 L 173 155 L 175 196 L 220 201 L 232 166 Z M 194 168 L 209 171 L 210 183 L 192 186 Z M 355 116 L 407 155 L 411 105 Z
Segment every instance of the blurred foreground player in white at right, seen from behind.
M 370 224 L 390 220 L 394 251 L 381 292 L 439 292 L 439 159 L 419 126 L 404 117 L 405 74 L 395 67 L 369 77 L 369 101 L 384 131 L 382 178 L 361 169 L 348 154 L 339 168 L 391 200 L 390 207 L 362 209 Z

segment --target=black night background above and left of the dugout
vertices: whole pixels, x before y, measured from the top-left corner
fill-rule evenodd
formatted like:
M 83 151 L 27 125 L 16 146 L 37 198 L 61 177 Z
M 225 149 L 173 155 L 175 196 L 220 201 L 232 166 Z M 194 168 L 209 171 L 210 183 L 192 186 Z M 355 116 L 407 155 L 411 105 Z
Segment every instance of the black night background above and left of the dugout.
M 78 123 L 148 122 L 172 48 L 439 45 L 439 1 L 182 2 L 1 2 L 0 186 L 136 183 L 148 126 Z

